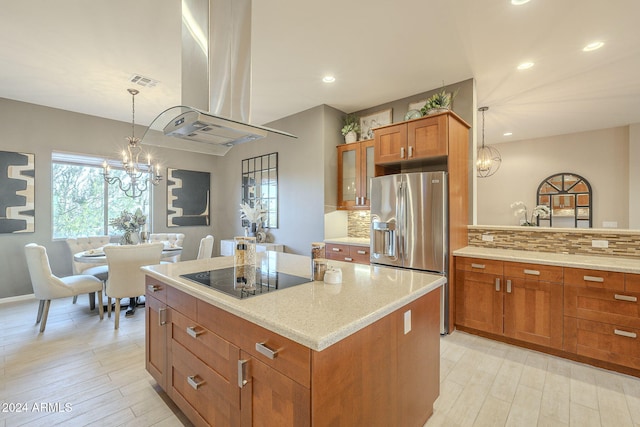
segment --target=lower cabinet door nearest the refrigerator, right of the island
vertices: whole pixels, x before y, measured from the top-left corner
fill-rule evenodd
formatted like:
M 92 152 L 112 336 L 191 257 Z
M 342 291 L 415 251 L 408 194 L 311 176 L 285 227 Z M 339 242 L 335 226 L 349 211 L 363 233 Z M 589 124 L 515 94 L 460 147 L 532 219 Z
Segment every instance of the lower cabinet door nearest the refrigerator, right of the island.
M 456 269 L 456 324 L 502 334 L 502 276 Z

